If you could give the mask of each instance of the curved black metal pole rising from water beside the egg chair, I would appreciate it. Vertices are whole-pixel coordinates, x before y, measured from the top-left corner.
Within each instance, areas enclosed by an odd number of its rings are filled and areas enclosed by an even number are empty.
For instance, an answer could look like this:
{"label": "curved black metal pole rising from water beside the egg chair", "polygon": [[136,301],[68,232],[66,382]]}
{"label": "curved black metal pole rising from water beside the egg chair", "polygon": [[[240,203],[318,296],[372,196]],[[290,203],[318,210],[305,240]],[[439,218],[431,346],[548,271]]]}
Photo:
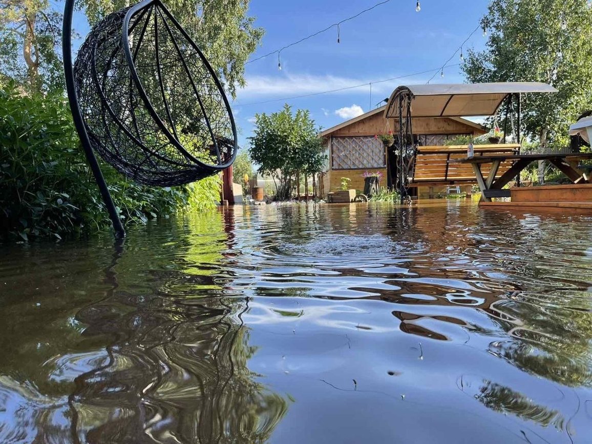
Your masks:
{"label": "curved black metal pole rising from water beside the egg chair", "polygon": [[74,126],[78,132],[78,137],[80,137],[86,160],[91,166],[92,173],[95,176],[96,185],[99,187],[101,197],[103,198],[103,202],[105,202],[105,206],[111,217],[111,223],[115,230],[115,237],[117,239],[123,239],[126,237],[126,230],[124,230],[123,224],[121,224],[119,214],[117,213],[117,209],[115,208],[115,204],[113,203],[111,194],[107,188],[107,182],[105,182],[101,167],[96,161],[95,152],[92,150],[91,141],[88,139],[84,121],[82,120],[82,113],[78,106],[78,97],[76,96],[76,88],[74,85],[74,69],[72,65],[72,14],[74,12],[74,1],[75,0],[66,0],[62,27],[62,56],[64,59],[64,75],[66,77],[66,91],[70,103],[70,111],[72,112]]}

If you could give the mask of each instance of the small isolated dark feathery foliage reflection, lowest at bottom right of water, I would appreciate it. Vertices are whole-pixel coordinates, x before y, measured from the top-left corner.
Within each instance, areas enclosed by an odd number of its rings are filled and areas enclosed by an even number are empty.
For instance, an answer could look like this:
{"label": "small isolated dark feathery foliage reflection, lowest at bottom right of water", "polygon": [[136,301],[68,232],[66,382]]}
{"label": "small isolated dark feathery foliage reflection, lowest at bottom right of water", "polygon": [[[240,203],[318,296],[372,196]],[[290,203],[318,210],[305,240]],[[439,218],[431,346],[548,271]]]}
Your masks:
{"label": "small isolated dark feathery foliage reflection, lowest at bottom right of water", "polygon": [[562,430],[565,425],[564,416],[557,410],[535,404],[525,395],[511,390],[504,385],[491,381],[483,381],[475,398],[485,407],[500,413],[512,413],[522,419],[539,423],[541,426],[553,425],[556,429]]}

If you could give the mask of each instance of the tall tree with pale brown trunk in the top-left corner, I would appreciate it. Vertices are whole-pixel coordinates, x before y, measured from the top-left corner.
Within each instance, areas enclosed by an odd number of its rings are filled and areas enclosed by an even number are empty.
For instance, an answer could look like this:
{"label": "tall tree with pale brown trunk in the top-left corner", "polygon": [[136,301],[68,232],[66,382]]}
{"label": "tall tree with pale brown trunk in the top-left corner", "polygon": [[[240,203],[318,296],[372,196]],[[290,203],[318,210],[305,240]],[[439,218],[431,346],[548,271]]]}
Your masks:
{"label": "tall tree with pale brown trunk in the top-left corner", "polygon": [[61,82],[62,14],[47,0],[0,0],[0,76],[34,91]]}

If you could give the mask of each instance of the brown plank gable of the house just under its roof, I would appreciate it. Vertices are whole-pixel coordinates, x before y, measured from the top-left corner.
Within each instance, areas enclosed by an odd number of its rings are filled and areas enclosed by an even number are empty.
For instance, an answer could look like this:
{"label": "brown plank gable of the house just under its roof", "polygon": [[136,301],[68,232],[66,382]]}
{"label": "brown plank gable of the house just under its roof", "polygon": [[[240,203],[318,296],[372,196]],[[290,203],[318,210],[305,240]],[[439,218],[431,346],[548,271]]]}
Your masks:
{"label": "brown plank gable of the house just under its roof", "polygon": [[[475,136],[485,134],[485,131],[477,127],[464,124],[457,120],[448,117],[417,117],[412,119],[414,134],[469,134],[473,133]],[[389,128],[393,133],[398,131],[398,121],[396,119],[389,119],[387,126],[387,119],[384,118],[382,112],[371,115],[363,120],[352,123],[346,127],[340,128],[331,133],[331,136],[374,136],[375,134],[385,134]]]}

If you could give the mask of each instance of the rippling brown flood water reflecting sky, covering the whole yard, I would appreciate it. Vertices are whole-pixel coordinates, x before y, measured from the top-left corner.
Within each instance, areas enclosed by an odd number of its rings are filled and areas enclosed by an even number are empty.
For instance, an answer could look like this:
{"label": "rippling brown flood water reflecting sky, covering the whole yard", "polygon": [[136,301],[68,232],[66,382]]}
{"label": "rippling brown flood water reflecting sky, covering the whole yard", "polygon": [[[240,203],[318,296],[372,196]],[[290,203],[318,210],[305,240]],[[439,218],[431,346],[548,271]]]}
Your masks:
{"label": "rippling brown flood water reflecting sky, covering the whole yard", "polygon": [[592,218],[268,205],[0,246],[0,442],[590,443]]}

